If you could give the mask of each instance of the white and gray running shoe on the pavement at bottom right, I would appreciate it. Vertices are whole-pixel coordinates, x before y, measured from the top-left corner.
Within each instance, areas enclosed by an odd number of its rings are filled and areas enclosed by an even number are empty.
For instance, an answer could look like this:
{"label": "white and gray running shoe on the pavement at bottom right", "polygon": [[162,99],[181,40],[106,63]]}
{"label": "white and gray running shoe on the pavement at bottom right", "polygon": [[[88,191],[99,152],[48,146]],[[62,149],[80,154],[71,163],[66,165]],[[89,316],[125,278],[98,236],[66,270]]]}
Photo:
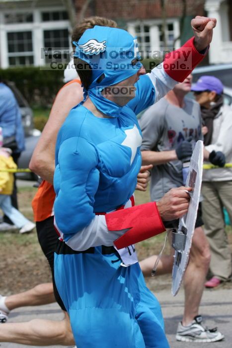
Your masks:
{"label": "white and gray running shoe on the pavement at bottom right", "polygon": [[181,342],[209,343],[222,341],[224,335],[217,328],[208,329],[202,325],[202,316],[197,315],[188,326],[178,324],[176,340]]}

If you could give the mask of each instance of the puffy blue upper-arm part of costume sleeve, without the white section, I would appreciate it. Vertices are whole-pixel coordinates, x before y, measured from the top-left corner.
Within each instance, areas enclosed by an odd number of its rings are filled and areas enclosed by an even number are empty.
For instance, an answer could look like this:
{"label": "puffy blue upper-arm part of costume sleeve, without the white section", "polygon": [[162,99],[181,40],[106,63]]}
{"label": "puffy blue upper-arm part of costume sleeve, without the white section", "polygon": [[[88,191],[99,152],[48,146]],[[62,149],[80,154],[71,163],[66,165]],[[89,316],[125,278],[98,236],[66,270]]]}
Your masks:
{"label": "puffy blue upper-arm part of costume sleeve, without the white section", "polygon": [[94,147],[85,139],[65,140],[58,151],[54,174],[55,217],[65,235],[77,233],[94,218],[93,203],[99,172]]}

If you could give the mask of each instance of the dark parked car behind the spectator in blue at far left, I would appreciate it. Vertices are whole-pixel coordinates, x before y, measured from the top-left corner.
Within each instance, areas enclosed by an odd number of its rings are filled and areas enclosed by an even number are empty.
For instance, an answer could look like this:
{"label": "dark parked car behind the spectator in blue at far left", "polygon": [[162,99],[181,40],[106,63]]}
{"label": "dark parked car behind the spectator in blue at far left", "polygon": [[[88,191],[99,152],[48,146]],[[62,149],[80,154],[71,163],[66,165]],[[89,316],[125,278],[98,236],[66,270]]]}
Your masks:
{"label": "dark parked car behind the spectator in blue at far left", "polygon": [[[33,111],[24,96],[13,82],[7,82],[7,86],[10,87],[15,98],[17,99],[22,115],[22,124],[25,134],[25,150],[19,157],[18,168],[28,168],[32,153],[39,140],[41,132],[38,129],[34,129]],[[18,178],[24,180],[37,180],[38,178],[34,173],[17,173],[16,175]]]}

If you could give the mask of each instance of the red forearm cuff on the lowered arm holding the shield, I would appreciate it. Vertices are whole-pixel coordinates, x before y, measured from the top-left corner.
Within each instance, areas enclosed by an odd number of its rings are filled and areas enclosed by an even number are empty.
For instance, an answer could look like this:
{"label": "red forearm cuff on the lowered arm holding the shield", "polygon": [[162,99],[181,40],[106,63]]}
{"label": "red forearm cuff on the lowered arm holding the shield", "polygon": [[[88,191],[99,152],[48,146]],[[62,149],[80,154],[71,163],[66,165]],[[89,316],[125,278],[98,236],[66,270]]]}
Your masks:
{"label": "red forearm cuff on the lowered arm holding the shield", "polygon": [[136,205],[105,215],[109,231],[129,229],[114,241],[117,249],[144,241],[165,231],[155,202]]}

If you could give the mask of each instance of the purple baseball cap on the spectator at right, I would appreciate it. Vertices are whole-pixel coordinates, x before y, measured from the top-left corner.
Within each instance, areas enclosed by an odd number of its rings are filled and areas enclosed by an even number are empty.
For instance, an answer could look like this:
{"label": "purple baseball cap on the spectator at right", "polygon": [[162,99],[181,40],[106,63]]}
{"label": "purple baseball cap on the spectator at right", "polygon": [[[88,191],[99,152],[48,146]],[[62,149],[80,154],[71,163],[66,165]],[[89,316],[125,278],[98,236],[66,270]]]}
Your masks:
{"label": "purple baseball cap on the spectator at right", "polygon": [[214,90],[217,94],[223,93],[223,84],[214,76],[201,76],[200,79],[191,88],[194,92],[201,92],[204,90]]}

